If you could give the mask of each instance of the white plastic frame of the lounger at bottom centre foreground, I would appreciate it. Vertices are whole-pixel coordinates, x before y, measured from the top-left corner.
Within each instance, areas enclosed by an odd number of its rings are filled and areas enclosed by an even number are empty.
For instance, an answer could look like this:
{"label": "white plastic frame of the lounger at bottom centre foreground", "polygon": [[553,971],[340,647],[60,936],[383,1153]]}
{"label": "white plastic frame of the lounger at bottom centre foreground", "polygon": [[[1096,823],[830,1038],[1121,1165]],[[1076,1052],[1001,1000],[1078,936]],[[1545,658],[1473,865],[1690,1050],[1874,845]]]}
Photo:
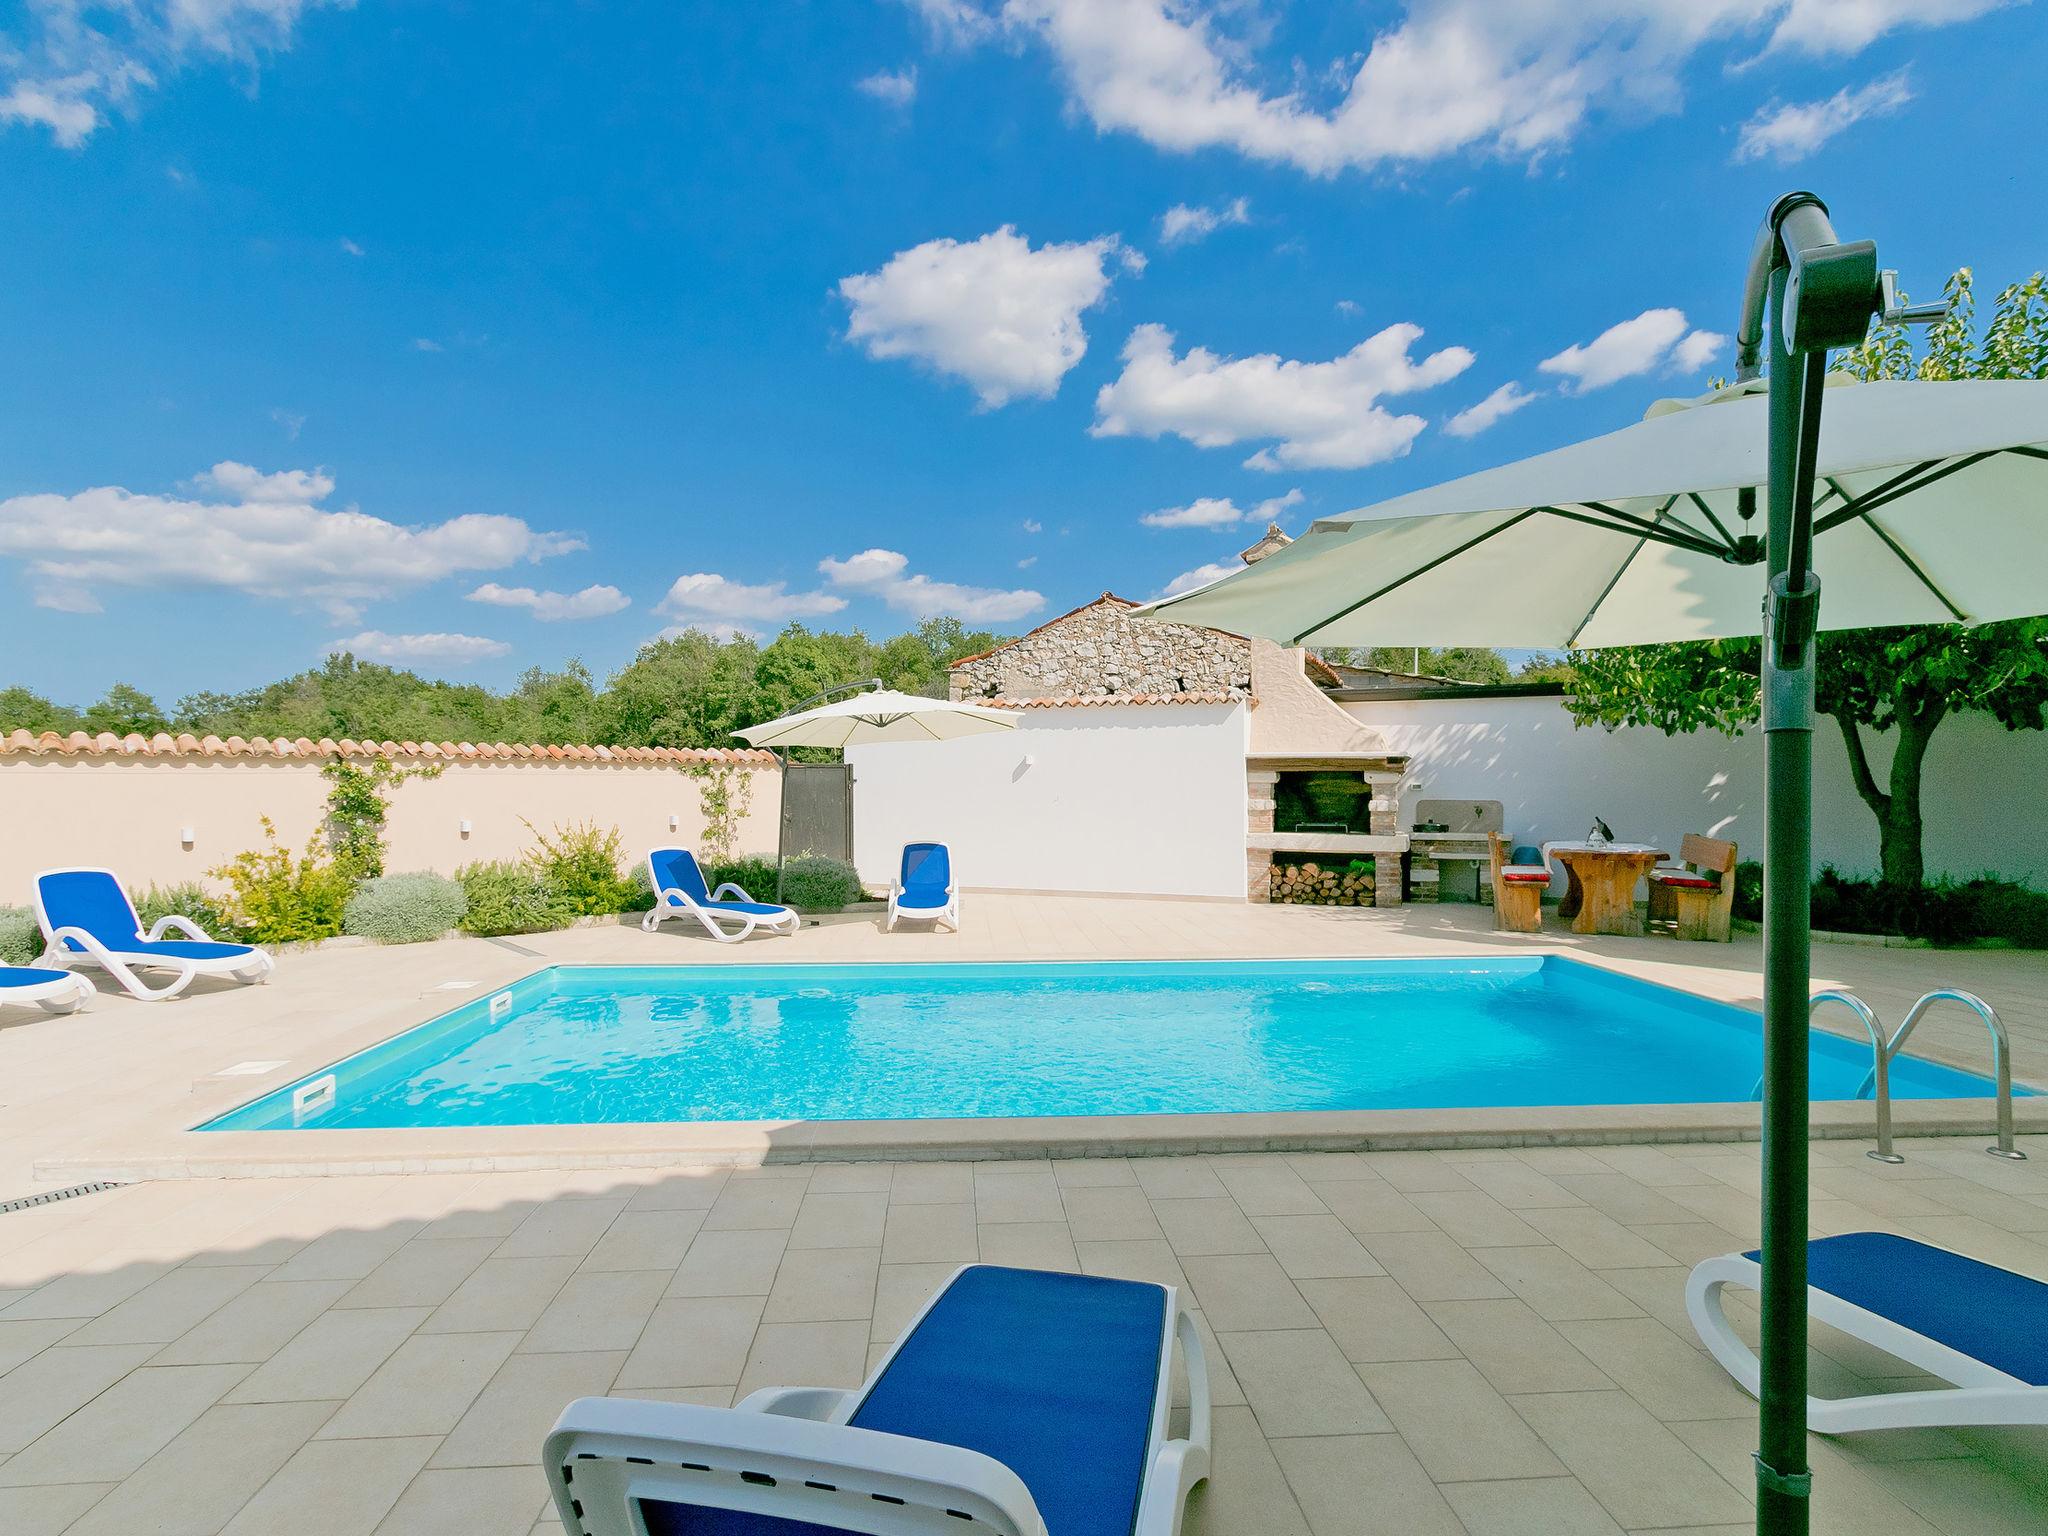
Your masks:
{"label": "white plastic frame of the lounger at bottom centre foreground", "polygon": [[[956,1270],[952,1280],[958,1276]],[[952,1280],[926,1300],[856,1393],[768,1386],[735,1409],[616,1397],[569,1403],[541,1450],[563,1530],[645,1536],[637,1501],[668,1499],[809,1520],[862,1536],[979,1530],[1044,1536],[1030,1491],[995,1458],[846,1423]],[[1188,1493],[1208,1477],[1208,1364],[1174,1286],[1165,1286],[1161,1333],[1159,1391],[1133,1536],[1176,1536]],[[1188,1368],[1186,1440],[1167,1438],[1176,1343]]]}

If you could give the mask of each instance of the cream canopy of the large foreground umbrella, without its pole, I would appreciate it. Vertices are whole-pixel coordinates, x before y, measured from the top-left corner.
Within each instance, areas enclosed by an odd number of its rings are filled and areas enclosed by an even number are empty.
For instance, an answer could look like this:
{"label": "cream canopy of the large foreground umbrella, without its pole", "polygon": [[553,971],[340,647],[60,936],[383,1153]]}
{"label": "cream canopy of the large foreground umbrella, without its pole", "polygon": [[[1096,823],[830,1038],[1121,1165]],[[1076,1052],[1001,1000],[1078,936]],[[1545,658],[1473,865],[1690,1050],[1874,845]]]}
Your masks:
{"label": "cream canopy of the large foreground umbrella, without its pole", "polygon": [[[1755,635],[1763,389],[1659,401],[1620,432],[1325,518],[1143,612],[1290,645]],[[2048,608],[2048,383],[1829,375],[1815,471],[1827,629]]]}

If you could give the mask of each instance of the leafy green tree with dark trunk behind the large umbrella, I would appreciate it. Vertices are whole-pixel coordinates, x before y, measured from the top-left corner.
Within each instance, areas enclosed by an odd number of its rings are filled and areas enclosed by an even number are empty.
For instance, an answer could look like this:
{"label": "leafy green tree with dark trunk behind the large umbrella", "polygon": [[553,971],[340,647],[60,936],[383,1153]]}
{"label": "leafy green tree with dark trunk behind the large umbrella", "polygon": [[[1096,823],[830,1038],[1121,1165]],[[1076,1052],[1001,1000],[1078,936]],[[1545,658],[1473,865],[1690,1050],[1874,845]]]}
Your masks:
{"label": "leafy green tree with dark trunk behind the large umbrella", "polygon": [[[2048,377],[2048,276],[2036,272],[1993,301],[1976,336],[1970,270],[1948,283],[1952,309],[1915,358],[1901,326],[1874,326],[1835,367],[1858,379]],[[2042,594],[2048,608],[2048,592]],[[1759,643],[1753,637],[1686,645],[1630,645],[1571,657],[1581,725],[1653,725],[1667,735],[1716,729],[1739,735],[1757,721]],[[1815,709],[1841,731],[1855,793],[1878,821],[1882,881],[1925,881],[1921,797],[1927,745],[1958,713],[1985,713],[2009,731],[2048,725],[2048,618],[1913,625],[1821,635]],[[1894,731],[1880,774],[1866,731]]]}

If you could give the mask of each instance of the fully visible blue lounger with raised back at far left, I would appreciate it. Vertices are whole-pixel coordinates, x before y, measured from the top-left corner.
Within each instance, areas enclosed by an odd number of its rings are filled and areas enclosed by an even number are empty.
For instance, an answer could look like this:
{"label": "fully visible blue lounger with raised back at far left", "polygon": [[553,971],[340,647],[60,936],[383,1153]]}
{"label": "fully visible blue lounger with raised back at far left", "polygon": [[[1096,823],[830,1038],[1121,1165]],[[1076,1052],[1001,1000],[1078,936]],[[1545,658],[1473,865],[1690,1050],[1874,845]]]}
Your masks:
{"label": "fully visible blue lounger with raised back at far left", "polygon": [[[111,868],[47,868],[35,877],[35,920],[45,961],[102,967],[143,1001],[176,997],[199,977],[264,981],[274,961],[252,944],[219,944],[190,918],[158,918],[143,934],[135,903]],[[166,940],[166,932],[184,938]],[[137,971],[176,971],[152,987]]]}

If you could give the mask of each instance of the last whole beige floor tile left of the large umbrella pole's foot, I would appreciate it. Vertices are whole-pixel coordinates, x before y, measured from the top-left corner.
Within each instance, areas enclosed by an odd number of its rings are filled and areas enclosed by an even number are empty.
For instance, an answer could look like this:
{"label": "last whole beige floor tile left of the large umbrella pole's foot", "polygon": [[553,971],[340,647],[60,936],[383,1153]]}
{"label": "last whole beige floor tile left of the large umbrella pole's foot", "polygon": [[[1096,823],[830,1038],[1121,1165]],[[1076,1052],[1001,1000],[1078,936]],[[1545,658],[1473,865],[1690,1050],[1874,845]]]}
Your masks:
{"label": "last whole beige floor tile left of the large umbrella pole's foot", "polygon": [[1749,1505],[1626,1393],[1532,1393],[1516,1411],[1620,1526],[1741,1520]]}

